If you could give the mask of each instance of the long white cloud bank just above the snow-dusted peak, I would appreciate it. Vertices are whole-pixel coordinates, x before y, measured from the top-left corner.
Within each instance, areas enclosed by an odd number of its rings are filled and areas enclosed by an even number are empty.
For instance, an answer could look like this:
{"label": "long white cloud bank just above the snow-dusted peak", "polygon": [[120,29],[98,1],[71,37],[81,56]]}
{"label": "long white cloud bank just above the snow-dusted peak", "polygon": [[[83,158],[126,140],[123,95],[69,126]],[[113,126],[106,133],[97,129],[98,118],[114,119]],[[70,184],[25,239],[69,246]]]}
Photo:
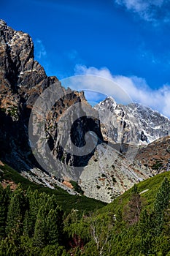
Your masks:
{"label": "long white cloud bank just above the snow-dusted peak", "polygon": [[[74,85],[74,89],[80,89],[78,86],[82,85],[81,89],[100,91],[103,94],[107,94],[126,103],[131,101],[139,102],[142,105],[150,106],[150,108],[153,110],[158,110],[163,115],[170,117],[169,85],[163,85],[157,90],[151,89],[150,86],[147,85],[144,78],[138,78],[136,76],[125,77],[123,75],[112,75],[109,69],[106,67],[96,69],[96,67],[77,65],[75,67],[75,75],[88,75],[88,78],[83,78],[82,76],[81,79],[85,79],[85,83],[82,83],[82,81],[81,83],[77,83],[77,86]],[[92,80],[92,76],[106,79],[100,79],[101,83],[99,80],[94,82],[94,80]],[[120,89],[118,89],[119,87]]]}

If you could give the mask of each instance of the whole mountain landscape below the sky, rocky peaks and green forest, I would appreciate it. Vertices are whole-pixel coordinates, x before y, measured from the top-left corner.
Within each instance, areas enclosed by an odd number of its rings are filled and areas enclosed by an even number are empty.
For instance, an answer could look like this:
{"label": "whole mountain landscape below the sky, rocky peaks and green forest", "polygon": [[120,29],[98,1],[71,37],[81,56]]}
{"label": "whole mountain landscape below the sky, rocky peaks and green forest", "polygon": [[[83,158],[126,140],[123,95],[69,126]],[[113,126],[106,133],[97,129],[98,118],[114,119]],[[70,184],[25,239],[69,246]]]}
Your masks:
{"label": "whole mountain landscape below the sky, rocky peaks and green forest", "polygon": [[4,20],[0,60],[0,255],[168,256],[169,119],[92,108]]}

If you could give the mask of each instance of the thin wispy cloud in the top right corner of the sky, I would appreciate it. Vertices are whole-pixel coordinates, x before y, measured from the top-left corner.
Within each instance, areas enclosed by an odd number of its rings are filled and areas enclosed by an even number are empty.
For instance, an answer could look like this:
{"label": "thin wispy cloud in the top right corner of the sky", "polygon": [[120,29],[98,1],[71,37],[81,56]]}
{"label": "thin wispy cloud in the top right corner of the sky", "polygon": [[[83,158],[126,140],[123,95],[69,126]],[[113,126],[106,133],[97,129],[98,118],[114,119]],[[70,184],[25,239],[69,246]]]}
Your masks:
{"label": "thin wispy cloud in the top right corner of the sky", "polygon": [[169,21],[169,0],[115,0],[115,3],[156,25],[160,20]]}

